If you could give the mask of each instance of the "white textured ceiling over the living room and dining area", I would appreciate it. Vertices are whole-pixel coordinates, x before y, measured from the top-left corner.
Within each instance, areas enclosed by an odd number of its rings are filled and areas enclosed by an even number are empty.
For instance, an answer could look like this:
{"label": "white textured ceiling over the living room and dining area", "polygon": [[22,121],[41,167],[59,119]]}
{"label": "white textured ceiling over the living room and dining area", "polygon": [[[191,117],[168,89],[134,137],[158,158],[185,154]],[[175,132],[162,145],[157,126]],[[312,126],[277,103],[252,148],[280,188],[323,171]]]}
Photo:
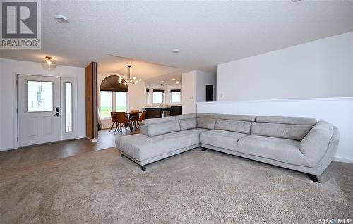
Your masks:
{"label": "white textured ceiling over the living room and dining area", "polygon": [[353,1],[42,1],[42,49],[1,49],[1,57],[97,61],[99,73],[131,65],[133,75],[157,82],[352,30]]}

